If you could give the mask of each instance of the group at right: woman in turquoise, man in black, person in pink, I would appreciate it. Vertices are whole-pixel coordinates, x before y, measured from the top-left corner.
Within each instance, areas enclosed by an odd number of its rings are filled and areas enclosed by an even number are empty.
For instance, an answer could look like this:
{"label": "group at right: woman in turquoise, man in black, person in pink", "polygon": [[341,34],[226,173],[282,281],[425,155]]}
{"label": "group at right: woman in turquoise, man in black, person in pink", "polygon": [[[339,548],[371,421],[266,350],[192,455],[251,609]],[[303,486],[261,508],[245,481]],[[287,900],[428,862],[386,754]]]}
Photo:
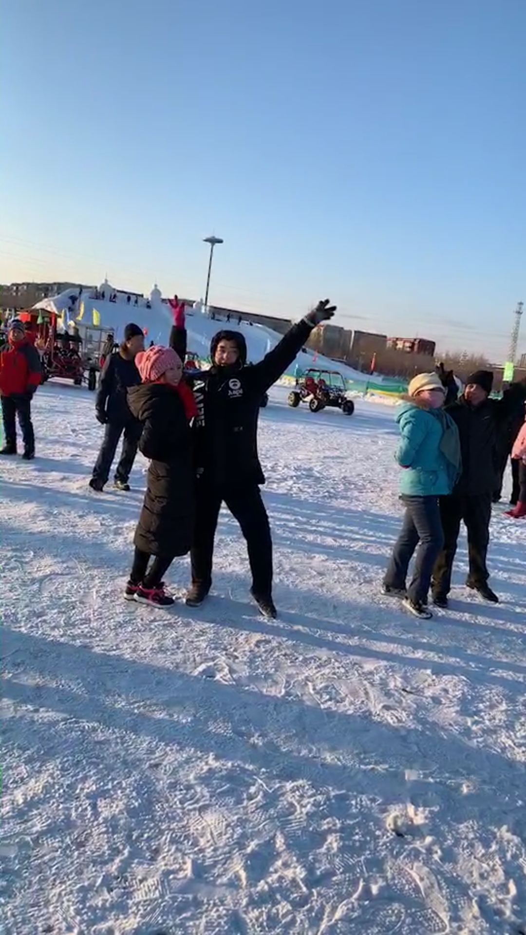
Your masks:
{"label": "group at right: woman in turquoise, man in black, person in pink", "polygon": [[522,428],[512,458],[519,464],[519,494],[508,515],[526,515],[526,381],[512,383],[500,399],[490,398],[492,383],[490,370],[477,370],[459,396],[452,371],[439,367],[409,383],[397,410],[401,440],[396,459],[403,468],[405,513],[383,592],[402,598],[405,608],[423,619],[432,616],[430,590],[432,603],[447,607],[461,521],[468,539],[466,586],[491,603],[499,601],[489,587],[489,522],[502,490],[503,439],[518,410]]}

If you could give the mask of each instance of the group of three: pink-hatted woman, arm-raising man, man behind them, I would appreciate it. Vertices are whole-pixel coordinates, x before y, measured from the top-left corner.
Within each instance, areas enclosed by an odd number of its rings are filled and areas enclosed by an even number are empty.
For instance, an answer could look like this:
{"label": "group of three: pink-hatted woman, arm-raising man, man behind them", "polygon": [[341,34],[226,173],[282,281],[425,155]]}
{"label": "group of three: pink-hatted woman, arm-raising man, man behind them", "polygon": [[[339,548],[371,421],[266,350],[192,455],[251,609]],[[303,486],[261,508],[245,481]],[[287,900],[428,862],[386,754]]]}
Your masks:
{"label": "group of three: pink-hatted woman, arm-raising man, man behind them", "polygon": [[176,556],[190,553],[192,581],[186,603],[198,607],[212,586],[215,530],[222,503],[246,539],[251,593],[275,617],[272,541],[259,487],[265,482],[257,454],[261,398],[289,367],[312,329],[332,318],[329,299],[318,302],[259,363],[247,362],[245,338],[222,330],[212,338],[212,367],[183,370],[186,329],[183,303],[172,305],[168,347],[144,350],[144,335],[128,324],[124,341],[105,361],[95,400],[105,426],[91,488],[102,492],[124,436],[114,484],[129,490],[139,451],[150,461],[139,516],[135,554],[124,597],[168,606],[163,578]]}

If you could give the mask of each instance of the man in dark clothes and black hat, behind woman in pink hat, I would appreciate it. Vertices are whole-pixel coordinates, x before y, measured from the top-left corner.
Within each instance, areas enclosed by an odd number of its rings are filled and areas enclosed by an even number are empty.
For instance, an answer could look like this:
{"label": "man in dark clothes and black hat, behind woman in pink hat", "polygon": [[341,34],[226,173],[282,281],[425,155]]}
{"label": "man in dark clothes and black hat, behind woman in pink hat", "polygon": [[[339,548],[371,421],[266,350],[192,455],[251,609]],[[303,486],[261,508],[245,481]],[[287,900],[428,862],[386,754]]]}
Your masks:
{"label": "man in dark clothes and black hat, behind woman in pink hat", "polygon": [[115,470],[117,490],[129,490],[128,478],[133,468],[140,435],[140,425],[132,415],[127,400],[130,386],[140,382],[135,366],[136,355],[144,349],[144,335],[138,324],[126,324],[124,341],[117,353],[106,358],[95,399],[98,422],[105,426],[104,440],[95,461],[90,481],[92,490],[101,493],[110,477],[110,468],[117,445],[124,433],[123,451]]}

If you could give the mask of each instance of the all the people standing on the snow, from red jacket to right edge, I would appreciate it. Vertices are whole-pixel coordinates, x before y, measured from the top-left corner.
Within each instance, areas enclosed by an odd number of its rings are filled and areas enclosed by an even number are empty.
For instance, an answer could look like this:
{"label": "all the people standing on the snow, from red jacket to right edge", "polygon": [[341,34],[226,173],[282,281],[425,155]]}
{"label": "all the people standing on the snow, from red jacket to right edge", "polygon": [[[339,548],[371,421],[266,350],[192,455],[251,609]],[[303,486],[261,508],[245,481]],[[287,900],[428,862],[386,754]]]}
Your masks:
{"label": "all the people standing on the snow, from red jacket to right edge", "polygon": [[[173,603],[163,578],[174,558],[189,552],[192,581],[186,602],[199,606],[212,586],[215,530],[226,503],[247,542],[252,595],[261,611],[273,617],[272,542],[259,490],[265,478],[257,454],[257,416],[261,397],[289,367],[312,329],[332,318],[335,307],[329,299],[318,302],[256,365],[247,363],[241,332],[219,331],[212,338],[212,367],[204,371],[184,369],[184,306],[171,302],[170,308],[174,324],[167,347],[144,350],[144,333],[137,324],[126,325],[118,347],[111,336],[95,399],[96,418],[105,431],[89,482],[92,490],[100,493],[109,482],[122,438],[114,474],[117,489],[130,489],[138,449],[150,461],[124,597],[159,606]],[[15,319],[8,326],[7,350],[0,352],[1,454],[17,453],[18,416],[22,458],[35,456],[31,400],[40,381],[38,353]],[[401,440],[396,459],[403,468],[405,513],[383,592],[402,598],[405,608],[420,618],[431,617],[430,590],[432,603],[447,607],[462,521],[468,538],[466,585],[498,602],[489,587],[489,522],[492,503],[502,490],[503,451],[509,453],[512,435],[511,454],[519,469],[516,505],[508,515],[526,516],[526,381],[512,383],[500,399],[490,397],[492,381],[491,371],[478,370],[459,396],[452,371],[439,367],[416,376],[397,409]]]}

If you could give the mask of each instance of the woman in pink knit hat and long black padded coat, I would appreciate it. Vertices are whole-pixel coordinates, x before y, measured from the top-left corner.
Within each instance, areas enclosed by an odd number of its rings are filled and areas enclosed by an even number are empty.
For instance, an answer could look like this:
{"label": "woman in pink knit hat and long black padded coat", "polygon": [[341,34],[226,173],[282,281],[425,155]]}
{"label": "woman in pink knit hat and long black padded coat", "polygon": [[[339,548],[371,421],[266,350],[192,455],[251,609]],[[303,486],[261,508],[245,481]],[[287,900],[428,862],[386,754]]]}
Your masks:
{"label": "woman in pink knit hat and long black padded coat", "polygon": [[[183,364],[171,348],[138,354],[142,383],[128,390],[129,407],[141,425],[139,449],[150,459],[135,555],[124,597],[166,607],[163,576],[176,555],[190,551],[194,530],[194,462],[190,420],[194,396],[181,382]],[[153,561],[151,562],[151,559]]]}

